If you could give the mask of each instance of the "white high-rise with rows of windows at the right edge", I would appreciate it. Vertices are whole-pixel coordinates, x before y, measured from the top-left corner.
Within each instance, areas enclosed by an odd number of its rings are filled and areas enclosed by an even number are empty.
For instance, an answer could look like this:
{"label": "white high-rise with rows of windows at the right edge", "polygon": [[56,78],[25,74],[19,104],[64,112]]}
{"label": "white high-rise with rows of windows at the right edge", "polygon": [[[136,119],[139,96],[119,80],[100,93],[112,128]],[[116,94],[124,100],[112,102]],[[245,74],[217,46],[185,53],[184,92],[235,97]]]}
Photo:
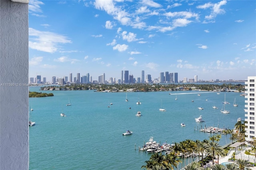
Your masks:
{"label": "white high-rise with rows of windows at the right edge", "polygon": [[245,140],[253,141],[256,138],[256,76],[248,77],[245,89]]}

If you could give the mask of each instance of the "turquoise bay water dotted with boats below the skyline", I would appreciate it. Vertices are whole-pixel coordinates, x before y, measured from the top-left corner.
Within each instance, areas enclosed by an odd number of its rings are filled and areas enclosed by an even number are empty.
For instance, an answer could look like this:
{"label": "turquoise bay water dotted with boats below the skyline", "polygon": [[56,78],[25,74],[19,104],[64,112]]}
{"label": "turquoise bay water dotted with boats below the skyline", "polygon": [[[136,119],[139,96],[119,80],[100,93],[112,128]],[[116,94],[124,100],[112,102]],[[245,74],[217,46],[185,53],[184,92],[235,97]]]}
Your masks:
{"label": "turquoise bay water dotted with boats below the skyline", "polygon": [[[30,87],[30,91],[39,91],[39,88]],[[150,136],[161,143],[204,140],[211,134],[197,128],[218,125],[234,128],[238,117],[244,120],[244,97],[233,92],[226,92],[226,101],[230,102],[226,109],[230,114],[220,113],[224,92],[220,95],[200,93],[201,96],[196,91],[131,92],[127,93],[128,102],[126,93],[121,92],[42,93],[54,93],[54,97],[29,99],[34,109],[32,121],[36,122],[29,127],[30,170],[140,170],[151,154],[139,152],[138,146],[143,146]],[[176,94],[178,100],[175,100]],[[235,97],[238,107],[232,105]],[[66,106],[69,98],[72,105]],[[136,105],[138,98],[141,105]],[[166,112],[159,111],[161,100]],[[213,105],[219,109],[213,109]],[[67,117],[60,116],[62,107]],[[135,116],[138,111],[141,117]],[[196,123],[194,119],[200,115],[205,122]],[[180,126],[182,122],[186,127]],[[122,136],[126,130],[133,134]],[[222,135],[220,144],[229,142],[228,138]]]}

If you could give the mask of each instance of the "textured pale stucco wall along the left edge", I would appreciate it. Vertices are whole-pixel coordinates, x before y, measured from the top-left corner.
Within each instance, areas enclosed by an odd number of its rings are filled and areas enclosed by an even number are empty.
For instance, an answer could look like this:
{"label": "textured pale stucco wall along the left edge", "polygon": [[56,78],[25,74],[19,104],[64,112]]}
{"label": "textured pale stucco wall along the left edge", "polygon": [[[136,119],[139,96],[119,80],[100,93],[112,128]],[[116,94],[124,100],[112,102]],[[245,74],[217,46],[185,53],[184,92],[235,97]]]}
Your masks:
{"label": "textured pale stucco wall along the left edge", "polygon": [[28,83],[28,4],[0,0],[0,170],[28,170],[28,87],[23,83]]}

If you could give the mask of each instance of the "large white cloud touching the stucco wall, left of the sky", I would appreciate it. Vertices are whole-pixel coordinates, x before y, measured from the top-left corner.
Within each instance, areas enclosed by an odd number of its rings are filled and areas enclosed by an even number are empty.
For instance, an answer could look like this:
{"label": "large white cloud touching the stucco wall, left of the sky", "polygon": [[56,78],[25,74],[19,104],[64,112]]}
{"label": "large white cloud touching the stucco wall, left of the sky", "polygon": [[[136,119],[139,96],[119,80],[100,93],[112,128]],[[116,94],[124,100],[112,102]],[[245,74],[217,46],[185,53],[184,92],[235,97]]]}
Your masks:
{"label": "large white cloud touching the stucco wall, left of the sky", "polygon": [[29,47],[38,51],[54,53],[60,48],[60,44],[71,43],[68,37],[53,32],[44,32],[29,28],[28,34]]}

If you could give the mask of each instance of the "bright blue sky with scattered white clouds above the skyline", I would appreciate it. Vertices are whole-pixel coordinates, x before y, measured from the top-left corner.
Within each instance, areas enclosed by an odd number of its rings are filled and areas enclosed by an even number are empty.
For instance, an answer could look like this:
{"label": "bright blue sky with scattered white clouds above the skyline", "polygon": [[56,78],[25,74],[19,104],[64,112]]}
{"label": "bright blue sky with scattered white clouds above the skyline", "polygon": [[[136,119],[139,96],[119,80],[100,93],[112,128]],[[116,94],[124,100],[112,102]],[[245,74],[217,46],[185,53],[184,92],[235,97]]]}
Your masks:
{"label": "bright blue sky with scattered white clouds above the skyline", "polygon": [[29,77],[256,75],[254,0],[30,0]]}

